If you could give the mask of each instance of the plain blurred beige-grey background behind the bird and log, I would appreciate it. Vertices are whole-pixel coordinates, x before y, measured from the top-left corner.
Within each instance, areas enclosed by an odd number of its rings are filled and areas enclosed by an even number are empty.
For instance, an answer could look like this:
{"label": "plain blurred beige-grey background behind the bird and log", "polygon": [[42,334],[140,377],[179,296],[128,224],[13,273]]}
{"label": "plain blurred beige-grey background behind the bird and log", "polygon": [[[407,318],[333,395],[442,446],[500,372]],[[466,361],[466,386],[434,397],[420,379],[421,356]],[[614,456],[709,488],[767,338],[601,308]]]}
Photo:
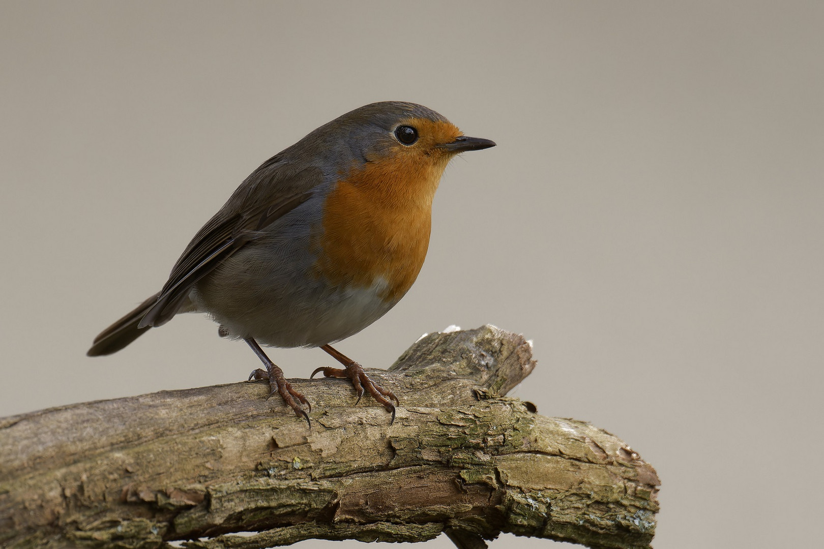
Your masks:
{"label": "plain blurred beige-grey background behind the bird and log", "polygon": [[339,349],[386,367],[452,323],[523,333],[515,394],[658,469],[656,547],[816,545],[824,2],[0,10],[0,415],[245,379],[255,356],[195,315],[85,352],[260,162],[411,100],[499,146],[453,161],[417,283]]}

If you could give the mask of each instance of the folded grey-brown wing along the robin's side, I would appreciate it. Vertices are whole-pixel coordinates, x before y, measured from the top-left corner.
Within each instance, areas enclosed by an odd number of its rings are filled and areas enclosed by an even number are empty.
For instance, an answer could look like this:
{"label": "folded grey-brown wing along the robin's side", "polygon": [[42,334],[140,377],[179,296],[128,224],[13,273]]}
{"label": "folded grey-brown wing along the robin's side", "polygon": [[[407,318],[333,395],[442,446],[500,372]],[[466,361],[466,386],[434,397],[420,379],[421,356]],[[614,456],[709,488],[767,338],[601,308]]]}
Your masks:
{"label": "folded grey-brown wing along the robin's side", "polygon": [[[277,157],[275,157],[277,158]],[[201,228],[171,269],[157,302],[138,328],[161,326],[175,314],[194,283],[255,238],[255,233],[306,202],[321,183],[317,170],[288,173],[270,159],[237,188]]]}

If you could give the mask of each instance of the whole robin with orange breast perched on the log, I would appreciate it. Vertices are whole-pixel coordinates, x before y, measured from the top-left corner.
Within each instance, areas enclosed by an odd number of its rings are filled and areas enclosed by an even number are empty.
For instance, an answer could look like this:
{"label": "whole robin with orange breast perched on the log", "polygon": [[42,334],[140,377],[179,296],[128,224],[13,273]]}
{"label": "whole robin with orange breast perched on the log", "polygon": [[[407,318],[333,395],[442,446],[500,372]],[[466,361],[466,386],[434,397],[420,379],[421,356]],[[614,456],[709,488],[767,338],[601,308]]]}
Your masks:
{"label": "whole robin with orange breast perched on the log", "polygon": [[[448,162],[494,147],[435,111],[400,101],[365,105],[326,123],[253,171],[198,231],[166,285],[98,335],[88,356],[110,355],[180,313],[208,313],[222,337],[242,339],[298,417],[311,404],[260,344],[321,347],[391,412],[398,399],[330,346],[360,332],[412,286],[429,244],[432,200]],[[300,404],[298,404],[300,402]],[[311,427],[311,423],[310,423]]]}

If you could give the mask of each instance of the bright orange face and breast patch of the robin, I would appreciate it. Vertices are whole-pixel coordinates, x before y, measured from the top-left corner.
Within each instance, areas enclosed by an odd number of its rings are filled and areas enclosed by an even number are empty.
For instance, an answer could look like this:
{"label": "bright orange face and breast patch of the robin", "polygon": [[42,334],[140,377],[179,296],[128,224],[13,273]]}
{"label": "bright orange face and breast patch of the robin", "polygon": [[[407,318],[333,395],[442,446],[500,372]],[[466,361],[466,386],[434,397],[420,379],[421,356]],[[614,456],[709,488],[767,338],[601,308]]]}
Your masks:
{"label": "bright orange face and breast patch of the robin", "polygon": [[392,142],[385,155],[340,179],[326,198],[316,241],[316,276],[344,287],[386,282],[380,296],[400,300],[424,264],[432,201],[454,154],[439,148],[461,131],[451,123],[407,119],[418,130],[411,146]]}

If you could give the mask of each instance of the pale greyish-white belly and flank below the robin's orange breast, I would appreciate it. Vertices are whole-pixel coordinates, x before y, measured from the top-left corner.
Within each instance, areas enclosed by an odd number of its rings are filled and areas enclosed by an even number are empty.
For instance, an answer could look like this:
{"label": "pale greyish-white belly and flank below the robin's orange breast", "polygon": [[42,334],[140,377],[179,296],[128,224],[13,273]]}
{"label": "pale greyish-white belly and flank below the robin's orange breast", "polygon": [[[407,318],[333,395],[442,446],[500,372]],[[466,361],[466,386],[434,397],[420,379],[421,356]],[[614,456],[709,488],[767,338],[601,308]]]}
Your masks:
{"label": "pale greyish-white belly and flank below the robin's orange breast", "polygon": [[[298,240],[298,241],[296,241]],[[386,296],[386,279],[369,286],[340,284],[313,272],[304,243],[241,249],[194,287],[197,309],[232,337],[253,337],[274,347],[320,347],[366,328],[400,297]]]}

